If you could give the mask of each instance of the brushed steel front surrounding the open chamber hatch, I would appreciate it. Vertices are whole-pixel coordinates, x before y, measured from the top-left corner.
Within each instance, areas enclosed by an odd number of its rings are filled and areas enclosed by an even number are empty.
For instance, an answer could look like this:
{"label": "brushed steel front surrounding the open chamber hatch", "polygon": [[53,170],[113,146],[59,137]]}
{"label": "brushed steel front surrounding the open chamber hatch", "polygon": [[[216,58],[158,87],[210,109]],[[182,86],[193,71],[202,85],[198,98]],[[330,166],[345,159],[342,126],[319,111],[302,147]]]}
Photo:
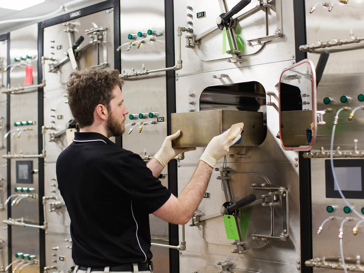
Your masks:
{"label": "brushed steel front surrounding the open chamber hatch", "polygon": [[[292,64],[289,61],[270,63],[265,65],[251,66],[248,68],[234,68],[228,70],[218,70],[213,72],[206,72],[200,74],[178,76],[176,81],[176,112],[188,112],[189,108],[199,111],[199,100],[203,90],[210,86],[220,85],[223,87],[225,84],[252,82],[256,81],[262,84],[265,92],[272,91],[275,95],[271,98],[266,96],[266,102],[271,100],[275,106],[262,105],[259,109],[264,114],[264,119],[267,123],[267,134],[264,142],[258,147],[240,147],[231,148],[229,154],[246,154],[245,158],[227,157],[227,162],[293,162],[298,153],[293,151],[284,151],[281,149],[280,139],[276,138],[279,131],[279,116],[278,116],[278,90],[274,85],[278,83],[281,72],[286,67]],[[229,78],[214,79],[213,75],[227,74]],[[262,77],[261,75],[270,75],[269,77]],[[189,94],[193,94],[190,97]],[[222,93],[223,94],[223,93]],[[194,101],[191,107],[189,101]],[[225,108],[224,108],[225,109]],[[227,107],[228,110],[236,110],[236,107]],[[199,157],[203,153],[203,148],[197,148],[196,151],[185,153],[183,162],[198,162]],[[220,159],[219,162],[223,162]],[[192,175],[192,174],[191,174]]]}

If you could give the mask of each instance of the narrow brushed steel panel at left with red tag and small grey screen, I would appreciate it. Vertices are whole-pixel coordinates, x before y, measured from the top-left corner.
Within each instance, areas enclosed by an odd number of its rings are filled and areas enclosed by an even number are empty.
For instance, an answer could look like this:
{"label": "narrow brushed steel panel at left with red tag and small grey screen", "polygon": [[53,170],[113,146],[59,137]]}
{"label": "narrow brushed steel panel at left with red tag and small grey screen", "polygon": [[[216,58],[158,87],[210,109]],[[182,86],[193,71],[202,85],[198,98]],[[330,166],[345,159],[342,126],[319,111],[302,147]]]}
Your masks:
{"label": "narrow brushed steel panel at left with red tag and small grey screen", "polygon": [[[37,84],[37,60],[38,60],[38,24],[32,24],[27,27],[16,29],[10,32],[10,59],[14,63],[14,58],[25,55],[36,55],[37,58],[31,60],[33,67],[33,84]],[[24,85],[25,70],[24,66],[16,67],[10,73],[11,87],[16,87],[18,84]],[[28,94],[10,95],[10,128],[14,129],[14,122],[25,120],[36,120],[38,124],[38,99],[37,92]],[[24,126],[23,126],[24,127]],[[28,126],[31,131],[22,132],[20,138],[16,135],[11,139],[10,151],[12,154],[38,154],[38,125]],[[9,135],[8,137],[11,137]],[[5,153],[5,152],[3,152]],[[33,184],[16,183],[16,161],[31,160],[33,161],[33,169],[38,169],[37,159],[11,159],[11,177],[12,177],[12,193],[15,187],[34,187],[33,193],[38,194],[38,174],[33,175]],[[38,198],[41,198],[38,196]],[[37,199],[24,198],[18,206],[13,206],[11,210],[12,218],[24,217],[25,222],[39,224]],[[6,217],[5,217],[6,218]],[[12,229],[12,257],[17,252],[29,253],[36,255],[39,258],[39,232],[36,228],[11,226]],[[18,268],[19,269],[19,268]],[[39,272],[39,266],[27,266],[24,270],[27,272]]]}

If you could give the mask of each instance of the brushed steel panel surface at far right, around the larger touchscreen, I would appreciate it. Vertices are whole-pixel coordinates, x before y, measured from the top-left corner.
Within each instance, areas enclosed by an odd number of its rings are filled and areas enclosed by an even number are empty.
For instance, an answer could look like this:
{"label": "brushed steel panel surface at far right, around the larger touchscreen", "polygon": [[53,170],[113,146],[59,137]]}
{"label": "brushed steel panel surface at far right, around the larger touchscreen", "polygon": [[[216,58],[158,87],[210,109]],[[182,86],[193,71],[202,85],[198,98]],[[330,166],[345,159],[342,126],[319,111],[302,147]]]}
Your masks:
{"label": "brushed steel panel surface at far right, around the larger touchscreen", "polygon": [[[344,39],[349,37],[349,32],[355,36],[362,36],[364,31],[362,14],[360,11],[361,3],[357,1],[348,2],[348,4],[334,4],[331,12],[328,8],[317,6],[313,13],[309,13],[310,8],[316,4],[315,0],[305,1],[306,7],[306,31],[307,43],[312,44],[317,40],[330,41],[333,37]],[[359,44],[357,44],[360,46]],[[334,117],[337,110],[343,106],[351,107],[363,105],[363,102],[357,100],[359,94],[363,94],[363,48],[355,50],[341,51],[339,47],[332,47],[330,50],[339,50],[331,52],[326,64],[323,78],[317,87],[317,110],[323,110],[327,107],[332,108],[332,112],[326,112],[324,115],[324,126],[317,127],[317,137],[314,147],[311,151],[320,151],[321,147],[327,152],[330,149],[331,132]],[[319,54],[307,54],[307,58],[317,63]],[[353,100],[343,104],[340,97],[343,95],[351,96]],[[324,104],[323,99],[330,97],[335,99],[334,104]],[[353,139],[358,139],[358,149],[364,149],[363,143],[363,111],[358,110],[354,118],[349,121],[350,111],[342,111],[339,114],[339,122],[336,126],[334,149],[340,146],[341,151],[353,151]],[[351,159],[346,159],[351,160]],[[341,198],[326,198],[325,195],[325,159],[311,159],[311,180],[312,180],[312,237],[313,237],[313,257],[331,257],[336,261],[340,257],[339,246],[339,228],[340,223],[345,217],[353,217],[353,221],[344,223],[343,249],[345,258],[355,258],[356,255],[363,255],[363,227],[359,227],[359,232],[353,236],[352,229],[359,221],[359,218],[353,214],[345,214],[343,207],[344,201]],[[357,209],[363,207],[361,199],[349,199],[349,203]],[[326,211],[326,206],[337,205],[337,210],[333,213]],[[335,220],[329,221],[324,225],[320,235],[317,235],[317,229],[324,219],[334,216]],[[304,262],[304,261],[302,261]],[[332,270],[323,268],[314,268],[313,272],[329,272]]]}

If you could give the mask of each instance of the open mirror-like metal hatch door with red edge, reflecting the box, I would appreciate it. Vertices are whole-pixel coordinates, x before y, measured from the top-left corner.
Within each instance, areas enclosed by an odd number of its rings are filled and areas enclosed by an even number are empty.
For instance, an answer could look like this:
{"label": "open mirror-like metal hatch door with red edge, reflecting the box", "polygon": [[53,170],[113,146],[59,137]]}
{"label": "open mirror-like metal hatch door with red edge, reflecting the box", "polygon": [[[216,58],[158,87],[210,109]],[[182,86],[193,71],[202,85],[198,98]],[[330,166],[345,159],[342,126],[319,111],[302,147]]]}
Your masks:
{"label": "open mirror-like metal hatch door with red edge, reflecting the box", "polygon": [[278,108],[282,147],[310,150],[316,137],[316,72],[310,60],[282,72]]}

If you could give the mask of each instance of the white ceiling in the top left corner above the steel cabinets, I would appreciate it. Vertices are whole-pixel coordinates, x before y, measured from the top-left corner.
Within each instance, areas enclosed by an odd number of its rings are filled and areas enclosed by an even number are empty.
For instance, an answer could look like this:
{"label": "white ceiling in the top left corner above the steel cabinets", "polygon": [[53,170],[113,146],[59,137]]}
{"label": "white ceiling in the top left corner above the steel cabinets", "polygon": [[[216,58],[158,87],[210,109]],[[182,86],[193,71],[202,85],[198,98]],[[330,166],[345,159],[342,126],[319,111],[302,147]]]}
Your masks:
{"label": "white ceiling in the top left corner above the steel cabinets", "polygon": [[[16,1],[16,0],[1,0],[1,1]],[[56,17],[63,13],[74,11],[76,9],[87,7],[89,5],[93,5],[95,3],[99,3],[102,1],[103,0],[84,0],[80,3],[70,5],[68,7],[68,11],[63,11],[63,12],[57,13],[56,15],[52,15],[48,18]],[[14,29],[23,27],[25,25],[37,23],[39,21],[43,21],[48,18],[44,18],[41,20],[33,20],[33,21],[25,21],[25,22],[12,22],[12,23],[1,23],[1,21],[45,15],[47,13],[56,11],[62,5],[66,4],[68,2],[70,2],[70,0],[46,0],[44,3],[35,5],[33,7],[27,8],[27,9],[23,9],[22,11],[15,11],[13,9],[0,8],[0,34],[6,33],[8,31],[12,31]]]}

